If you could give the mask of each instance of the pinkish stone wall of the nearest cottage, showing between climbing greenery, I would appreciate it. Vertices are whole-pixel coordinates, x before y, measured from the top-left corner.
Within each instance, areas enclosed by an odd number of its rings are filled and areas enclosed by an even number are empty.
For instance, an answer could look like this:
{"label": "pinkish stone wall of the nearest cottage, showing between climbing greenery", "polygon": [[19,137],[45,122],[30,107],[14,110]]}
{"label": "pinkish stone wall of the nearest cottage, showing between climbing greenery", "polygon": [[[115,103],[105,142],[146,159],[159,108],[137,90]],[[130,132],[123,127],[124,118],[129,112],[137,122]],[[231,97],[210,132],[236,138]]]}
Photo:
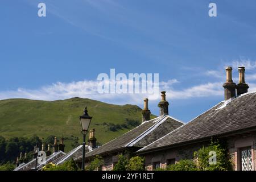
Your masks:
{"label": "pinkish stone wall of the nearest cottage, showing between climbing greenery", "polygon": [[[251,148],[252,160],[254,170],[256,171],[256,132],[250,134],[234,135],[226,138],[228,143],[228,151],[232,159],[233,169],[241,170],[241,148]],[[164,149],[156,152],[145,154],[146,170],[151,171],[154,169],[154,163],[160,162],[161,168],[166,168],[168,159],[175,159],[179,162],[181,159],[192,159],[195,151],[201,147],[207,146],[209,142],[201,142],[190,144],[188,146]]]}

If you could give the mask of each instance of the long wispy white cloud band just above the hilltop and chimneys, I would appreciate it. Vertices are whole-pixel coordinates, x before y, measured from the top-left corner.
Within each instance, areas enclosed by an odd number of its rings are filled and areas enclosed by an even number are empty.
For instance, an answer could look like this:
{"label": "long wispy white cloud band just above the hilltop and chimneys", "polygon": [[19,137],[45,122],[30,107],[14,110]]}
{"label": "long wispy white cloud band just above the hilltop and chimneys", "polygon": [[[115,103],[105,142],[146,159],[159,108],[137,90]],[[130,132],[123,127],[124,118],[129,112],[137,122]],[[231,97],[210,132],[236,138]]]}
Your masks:
{"label": "long wispy white cloud band just above the hilltop and chimneys", "polygon": [[[246,69],[253,71],[256,69],[256,63],[253,61],[232,61],[230,64],[244,65]],[[171,79],[168,81],[159,82],[159,91],[166,90],[167,98],[170,100],[185,100],[189,98],[202,98],[223,96],[224,89],[222,84],[225,81],[225,70],[210,70],[202,72],[202,75],[217,78],[216,81],[207,82],[205,84],[193,85],[188,88],[176,89],[175,84],[179,86],[180,81],[177,79]],[[233,74],[234,75],[234,74]],[[212,79],[209,79],[212,80]],[[234,81],[237,81],[237,77],[233,77]],[[246,82],[250,86],[250,91],[256,91],[256,74],[246,74]],[[56,82],[52,85],[43,86],[39,89],[26,89],[18,88],[17,90],[7,90],[0,92],[0,100],[7,98],[29,98],[34,100],[63,100],[71,97],[90,98],[93,100],[100,100],[103,102],[110,102],[113,104],[140,104],[142,98],[148,97],[147,93],[144,94],[100,94],[98,93],[98,81],[96,80],[84,80],[77,82]],[[158,96],[153,96],[152,102],[159,100]]]}

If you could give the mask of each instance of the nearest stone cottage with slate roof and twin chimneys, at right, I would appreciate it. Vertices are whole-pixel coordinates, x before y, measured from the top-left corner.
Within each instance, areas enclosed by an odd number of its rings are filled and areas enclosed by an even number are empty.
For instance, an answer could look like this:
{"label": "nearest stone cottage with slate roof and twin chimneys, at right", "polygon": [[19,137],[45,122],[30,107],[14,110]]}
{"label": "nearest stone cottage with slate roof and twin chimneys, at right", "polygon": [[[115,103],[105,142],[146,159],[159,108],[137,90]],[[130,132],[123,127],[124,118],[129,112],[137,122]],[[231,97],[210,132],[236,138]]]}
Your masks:
{"label": "nearest stone cottage with slate roof and twin chimneys, at right", "polygon": [[212,137],[224,139],[237,171],[256,170],[256,92],[247,93],[245,68],[239,67],[239,83],[226,68],[225,101],[200,114],[137,152],[146,158],[146,169],[165,168],[209,144]]}

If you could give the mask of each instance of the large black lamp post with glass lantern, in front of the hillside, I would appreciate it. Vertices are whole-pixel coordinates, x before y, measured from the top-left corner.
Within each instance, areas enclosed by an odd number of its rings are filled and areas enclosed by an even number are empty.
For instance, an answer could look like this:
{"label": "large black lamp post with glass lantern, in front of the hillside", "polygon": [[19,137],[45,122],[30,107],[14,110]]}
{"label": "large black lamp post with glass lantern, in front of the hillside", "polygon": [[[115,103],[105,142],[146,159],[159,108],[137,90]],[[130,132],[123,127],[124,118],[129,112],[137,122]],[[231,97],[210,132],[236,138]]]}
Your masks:
{"label": "large black lamp post with glass lantern, in front of the hillside", "polygon": [[84,163],[85,163],[85,137],[88,132],[90,121],[92,121],[92,117],[88,115],[87,107],[85,107],[84,114],[79,117],[80,124],[82,127],[83,134],[83,143],[82,143],[82,171],[84,171]]}

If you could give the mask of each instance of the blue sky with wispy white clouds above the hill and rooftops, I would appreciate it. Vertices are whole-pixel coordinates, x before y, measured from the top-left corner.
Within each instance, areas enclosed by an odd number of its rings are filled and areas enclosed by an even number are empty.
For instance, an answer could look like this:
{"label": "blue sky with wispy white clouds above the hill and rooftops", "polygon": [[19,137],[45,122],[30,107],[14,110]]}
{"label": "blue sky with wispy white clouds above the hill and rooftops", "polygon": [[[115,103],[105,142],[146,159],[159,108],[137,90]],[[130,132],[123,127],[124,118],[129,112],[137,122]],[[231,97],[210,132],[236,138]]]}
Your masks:
{"label": "blue sky with wispy white clouds above the hill and rooftops", "polygon": [[[44,2],[47,16],[38,16]],[[217,5],[210,18],[208,5]],[[0,2],[0,99],[87,97],[142,107],[139,94],[92,92],[99,73],[159,73],[170,115],[190,121],[222,101],[225,67],[256,90],[256,2],[61,0]],[[159,113],[159,100],[150,100]]]}

